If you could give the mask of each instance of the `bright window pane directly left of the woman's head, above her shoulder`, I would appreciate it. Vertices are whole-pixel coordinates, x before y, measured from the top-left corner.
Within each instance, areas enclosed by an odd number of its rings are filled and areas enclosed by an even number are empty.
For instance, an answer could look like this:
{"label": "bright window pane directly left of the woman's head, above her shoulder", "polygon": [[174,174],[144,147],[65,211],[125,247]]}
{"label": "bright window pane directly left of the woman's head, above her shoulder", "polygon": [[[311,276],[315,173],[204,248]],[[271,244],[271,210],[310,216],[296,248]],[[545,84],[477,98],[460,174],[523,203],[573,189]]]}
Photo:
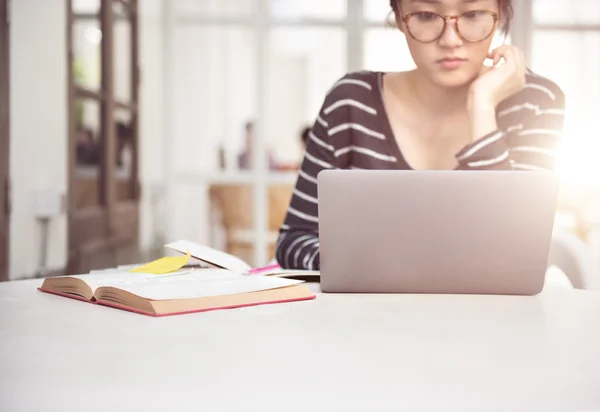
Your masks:
{"label": "bright window pane directly left of the woman's head, above her shoulder", "polygon": [[282,168],[304,154],[301,131],[311,126],[331,86],[346,73],[341,28],[277,28],[269,38],[266,143]]}

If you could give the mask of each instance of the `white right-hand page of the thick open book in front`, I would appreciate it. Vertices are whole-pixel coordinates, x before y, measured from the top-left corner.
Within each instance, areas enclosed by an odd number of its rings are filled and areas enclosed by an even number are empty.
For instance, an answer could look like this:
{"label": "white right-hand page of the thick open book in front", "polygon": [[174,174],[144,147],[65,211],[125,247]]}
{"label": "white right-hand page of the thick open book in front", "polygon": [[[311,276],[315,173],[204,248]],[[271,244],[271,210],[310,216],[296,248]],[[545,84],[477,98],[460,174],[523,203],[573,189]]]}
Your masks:
{"label": "white right-hand page of the thick open book in front", "polygon": [[191,299],[277,289],[300,280],[245,276],[222,269],[199,269],[180,276],[154,276],[131,282],[102,282],[150,300]]}

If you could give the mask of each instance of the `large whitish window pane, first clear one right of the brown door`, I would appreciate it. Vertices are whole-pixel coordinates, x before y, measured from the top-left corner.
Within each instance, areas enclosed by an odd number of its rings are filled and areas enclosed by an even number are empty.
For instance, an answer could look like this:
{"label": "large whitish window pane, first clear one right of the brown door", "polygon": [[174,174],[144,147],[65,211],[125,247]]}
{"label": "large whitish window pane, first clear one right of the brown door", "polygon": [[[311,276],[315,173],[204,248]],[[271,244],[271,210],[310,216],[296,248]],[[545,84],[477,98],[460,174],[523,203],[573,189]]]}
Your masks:
{"label": "large whitish window pane, first clear one right of the brown door", "polygon": [[245,124],[256,117],[256,40],[244,27],[174,29],[173,158],[183,172],[237,168]]}

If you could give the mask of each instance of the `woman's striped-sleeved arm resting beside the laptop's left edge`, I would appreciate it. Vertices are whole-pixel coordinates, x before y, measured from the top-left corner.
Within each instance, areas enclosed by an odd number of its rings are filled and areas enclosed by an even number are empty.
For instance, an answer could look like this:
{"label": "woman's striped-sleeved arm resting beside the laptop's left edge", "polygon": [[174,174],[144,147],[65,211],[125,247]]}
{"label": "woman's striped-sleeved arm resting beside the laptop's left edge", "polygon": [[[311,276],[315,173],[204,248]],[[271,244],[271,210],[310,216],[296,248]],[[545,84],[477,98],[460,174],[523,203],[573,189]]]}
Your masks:
{"label": "woman's striped-sleeved arm resting beside the laptop's left edge", "polygon": [[326,119],[321,110],[309,132],[304,160],[275,247],[277,262],[284,269],[318,270],[320,266],[317,175],[321,170],[337,167]]}

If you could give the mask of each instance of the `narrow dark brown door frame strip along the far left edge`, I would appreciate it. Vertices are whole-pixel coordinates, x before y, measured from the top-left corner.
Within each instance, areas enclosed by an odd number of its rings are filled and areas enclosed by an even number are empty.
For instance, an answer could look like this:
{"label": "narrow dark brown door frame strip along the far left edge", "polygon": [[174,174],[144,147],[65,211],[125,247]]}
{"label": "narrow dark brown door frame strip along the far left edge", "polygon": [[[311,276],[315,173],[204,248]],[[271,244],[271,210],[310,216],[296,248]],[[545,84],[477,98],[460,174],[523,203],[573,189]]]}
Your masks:
{"label": "narrow dark brown door frame strip along the far left edge", "polygon": [[0,282],[10,253],[10,1],[0,0]]}

